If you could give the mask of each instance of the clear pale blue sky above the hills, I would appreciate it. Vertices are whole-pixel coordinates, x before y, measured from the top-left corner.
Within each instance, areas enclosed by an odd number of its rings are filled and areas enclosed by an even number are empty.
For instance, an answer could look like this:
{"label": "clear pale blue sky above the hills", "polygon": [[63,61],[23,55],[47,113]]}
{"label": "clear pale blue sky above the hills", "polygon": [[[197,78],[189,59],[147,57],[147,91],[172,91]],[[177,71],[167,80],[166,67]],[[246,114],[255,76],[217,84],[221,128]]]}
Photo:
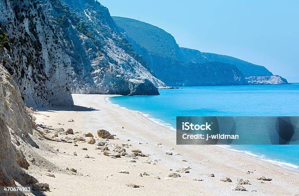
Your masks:
{"label": "clear pale blue sky above the hills", "polygon": [[234,56],[299,82],[299,0],[99,0],[181,47]]}

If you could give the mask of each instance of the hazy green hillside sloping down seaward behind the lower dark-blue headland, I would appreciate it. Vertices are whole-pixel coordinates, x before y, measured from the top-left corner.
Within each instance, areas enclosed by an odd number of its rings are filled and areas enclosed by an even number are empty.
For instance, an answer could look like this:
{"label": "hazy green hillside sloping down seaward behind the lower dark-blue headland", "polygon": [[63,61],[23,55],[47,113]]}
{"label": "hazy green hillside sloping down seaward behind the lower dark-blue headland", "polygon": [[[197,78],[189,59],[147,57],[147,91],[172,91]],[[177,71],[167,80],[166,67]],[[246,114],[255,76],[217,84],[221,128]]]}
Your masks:
{"label": "hazy green hillside sloping down seaward behind the lower dark-blue headland", "polygon": [[[120,29],[123,30],[134,50],[143,56],[143,58],[150,65],[150,68],[153,70],[154,74],[159,79],[163,80],[167,85],[170,84],[167,82],[167,80],[159,77],[159,73],[157,70],[155,71],[155,67],[169,65],[177,65],[179,67],[182,63],[193,63],[195,65],[209,62],[219,62],[219,64],[216,63],[214,65],[218,65],[219,67],[227,65],[227,68],[235,65],[243,75],[239,75],[239,77],[242,77],[244,81],[244,77],[273,75],[264,66],[255,65],[234,57],[200,52],[198,50],[189,48],[180,48],[171,34],[146,22],[140,22],[123,17],[112,18],[120,27]],[[202,71],[204,71],[204,66],[201,67],[203,69]],[[167,69],[167,67],[165,67],[165,69]],[[221,67],[221,69],[223,70],[224,68]],[[186,75],[186,77],[188,76]],[[228,81],[229,80],[230,79],[228,79]],[[225,84],[228,84],[228,82]],[[246,84],[246,82],[244,84]],[[215,84],[211,83],[210,85]]]}

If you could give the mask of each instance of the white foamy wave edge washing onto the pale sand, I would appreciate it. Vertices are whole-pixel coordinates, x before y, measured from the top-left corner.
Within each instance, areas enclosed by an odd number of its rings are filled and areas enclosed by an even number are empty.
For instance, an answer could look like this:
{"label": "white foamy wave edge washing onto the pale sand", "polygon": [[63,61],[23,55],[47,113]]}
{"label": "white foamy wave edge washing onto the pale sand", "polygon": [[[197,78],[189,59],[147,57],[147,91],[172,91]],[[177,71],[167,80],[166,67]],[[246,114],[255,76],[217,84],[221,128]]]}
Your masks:
{"label": "white foamy wave edge washing onto the pale sand", "polygon": [[[122,106],[120,106],[118,104],[112,103],[111,100],[109,99],[109,97],[106,97],[105,100],[107,101],[108,104],[111,104],[113,106],[119,107],[121,109],[128,109],[128,108],[122,107]],[[149,120],[151,120],[152,122],[154,122],[154,123],[156,123],[158,125],[165,126],[165,127],[169,128],[169,129],[171,129],[172,131],[176,131],[176,129],[171,124],[166,123],[165,121],[163,121],[161,119],[154,118],[154,117],[152,117],[149,114],[146,114],[146,113],[143,113],[143,112],[140,112],[140,111],[137,111],[137,110],[134,110],[134,111],[140,113],[141,115],[145,116],[146,118],[148,118]],[[293,169],[293,170],[299,170],[299,166],[298,165],[295,165],[295,164],[292,164],[292,163],[288,163],[288,162],[279,161],[279,160],[275,160],[275,159],[270,159],[270,158],[266,157],[264,154],[256,154],[256,153],[251,152],[251,151],[236,150],[236,149],[233,149],[229,145],[217,145],[217,146],[220,147],[220,148],[224,148],[224,149],[230,150],[230,151],[242,152],[242,153],[245,153],[245,154],[247,154],[249,156],[258,158],[258,159],[263,160],[263,161],[270,162],[272,164],[278,165],[278,166],[283,167],[283,168],[288,168],[288,169]]]}

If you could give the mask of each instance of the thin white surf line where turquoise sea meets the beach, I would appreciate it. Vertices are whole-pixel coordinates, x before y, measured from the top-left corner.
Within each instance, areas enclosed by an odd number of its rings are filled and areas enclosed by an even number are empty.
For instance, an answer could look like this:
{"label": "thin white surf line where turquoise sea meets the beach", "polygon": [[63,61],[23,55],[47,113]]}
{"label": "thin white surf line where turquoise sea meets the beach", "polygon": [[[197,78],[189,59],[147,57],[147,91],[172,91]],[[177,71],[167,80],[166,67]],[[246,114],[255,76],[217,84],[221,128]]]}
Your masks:
{"label": "thin white surf line where turquoise sea meets the beach", "polygon": [[[118,97],[118,96],[123,96],[123,95],[108,95],[106,98],[105,98],[105,101],[107,102],[107,104],[110,104],[110,105],[113,105],[113,106],[116,106],[116,107],[119,107],[121,109],[128,109],[126,107],[123,107],[123,106],[120,106],[118,104],[115,104],[115,103],[112,103],[111,100],[109,100],[110,97]],[[137,112],[137,113],[140,113],[140,115],[148,118],[150,121],[152,121],[153,123],[157,124],[157,125],[160,125],[160,126],[164,126],[168,129],[170,129],[171,131],[176,131],[175,128],[161,120],[161,119],[158,119],[158,118],[155,118],[155,117],[151,117],[150,114],[147,114],[147,113],[144,113],[144,112],[141,112],[141,111],[138,111],[138,110],[132,110],[132,109],[128,109],[128,110],[131,110],[133,112]],[[286,162],[286,161],[281,161],[281,160],[276,160],[276,159],[271,159],[270,157],[263,157],[263,154],[257,154],[256,152],[251,152],[251,151],[247,151],[247,150],[237,150],[237,149],[234,149],[233,146],[229,146],[229,147],[226,147],[227,145],[215,145],[215,146],[218,146],[219,148],[223,148],[223,149],[226,149],[226,150],[229,150],[229,151],[233,151],[233,152],[240,152],[242,154],[245,154],[247,156],[250,156],[252,158],[256,158],[258,160],[262,160],[262,161],[265,161],[267,163],[271,163],[273,165],[276,165],[276,166],[279,166],[279,167],[282,167],[284,169],[288,169],[288,170],[291,170],[291,171],[295,171],[295,172],[298,172],[299,173],[299,166],[298,165],[294,165],[293,163],[289,163],[289,162]]]}

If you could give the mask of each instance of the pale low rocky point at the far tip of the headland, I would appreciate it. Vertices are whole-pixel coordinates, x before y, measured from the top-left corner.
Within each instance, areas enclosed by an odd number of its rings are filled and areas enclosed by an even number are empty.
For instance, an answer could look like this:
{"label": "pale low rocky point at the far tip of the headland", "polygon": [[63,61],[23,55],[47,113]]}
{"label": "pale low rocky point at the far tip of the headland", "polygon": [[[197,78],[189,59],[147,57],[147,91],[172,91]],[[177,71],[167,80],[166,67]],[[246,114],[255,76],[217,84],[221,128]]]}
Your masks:
{"label": "pale low rocky point at the far tip of the headland", "polygon": [[285,78],[281,76],[251,76],[246,78],[249,85],[287,85],[289,84]]}

